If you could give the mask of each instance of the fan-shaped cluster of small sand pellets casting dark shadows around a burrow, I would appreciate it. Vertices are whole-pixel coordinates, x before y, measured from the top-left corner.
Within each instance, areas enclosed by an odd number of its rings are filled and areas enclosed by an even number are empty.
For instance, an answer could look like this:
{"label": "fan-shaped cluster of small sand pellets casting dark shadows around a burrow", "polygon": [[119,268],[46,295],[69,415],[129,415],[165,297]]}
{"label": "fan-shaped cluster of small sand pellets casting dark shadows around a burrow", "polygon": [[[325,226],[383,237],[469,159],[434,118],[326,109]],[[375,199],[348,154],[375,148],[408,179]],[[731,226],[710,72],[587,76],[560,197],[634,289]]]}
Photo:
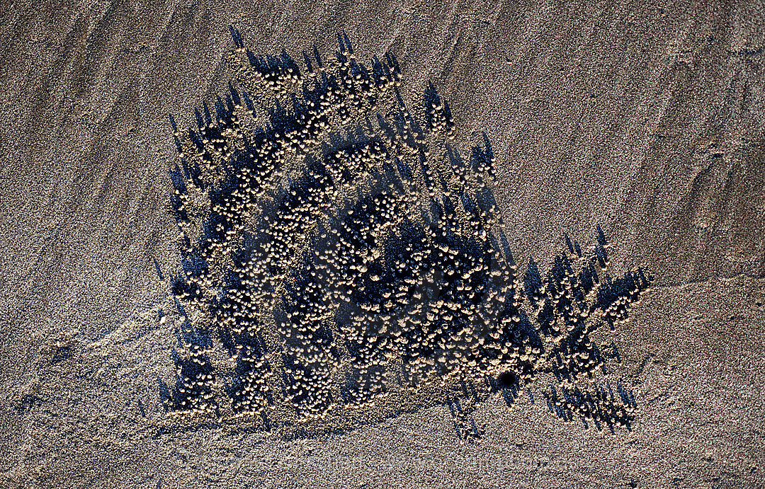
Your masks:
{"label": "fan-shaped cluster of small sand pellets casting dark shadows around a burrow", "polygon": [[490,141],[461,157],[432,86],[412,112],[392,55],[367,68],[340,35],[334,60],[314,50],[301,69],[232,34],[229,93],[197,128],[171,121],[182,273],[168,423],[337,429],[435,402],[468,438],[477,400],[512,403],[547,375],[553,413],[629,425],[634,398],[597,380],[590,333],[626,319],[643,270],[612,279],[598,228],[546,274],[519,272]]}

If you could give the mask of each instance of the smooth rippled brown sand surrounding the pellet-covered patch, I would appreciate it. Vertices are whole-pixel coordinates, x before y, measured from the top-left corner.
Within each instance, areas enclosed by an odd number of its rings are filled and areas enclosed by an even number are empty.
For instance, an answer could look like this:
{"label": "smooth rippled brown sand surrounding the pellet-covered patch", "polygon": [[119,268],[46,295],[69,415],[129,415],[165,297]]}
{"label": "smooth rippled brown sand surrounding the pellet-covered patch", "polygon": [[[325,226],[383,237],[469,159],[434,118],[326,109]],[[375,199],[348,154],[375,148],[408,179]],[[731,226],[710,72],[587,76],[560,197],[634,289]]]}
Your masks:
{"label": "smooth rippled brown sand surrounding the pellet-covered patch", "polygon": [[[5,2],[0,8],[3,487],[762,487],[765,11],[760,2]],[[610,336],[632,432],[522,397],[282,442],[152,437],[173,338],[166,203],[186,125],[229,79],[228,25],[296,58],[337,31],[395,53],[405,98],[486,131],[516,260],[603,226],[655,287]],[[509,62],[507,61],[509,60]],[[145,319],[142,319],[145,318]]]}

